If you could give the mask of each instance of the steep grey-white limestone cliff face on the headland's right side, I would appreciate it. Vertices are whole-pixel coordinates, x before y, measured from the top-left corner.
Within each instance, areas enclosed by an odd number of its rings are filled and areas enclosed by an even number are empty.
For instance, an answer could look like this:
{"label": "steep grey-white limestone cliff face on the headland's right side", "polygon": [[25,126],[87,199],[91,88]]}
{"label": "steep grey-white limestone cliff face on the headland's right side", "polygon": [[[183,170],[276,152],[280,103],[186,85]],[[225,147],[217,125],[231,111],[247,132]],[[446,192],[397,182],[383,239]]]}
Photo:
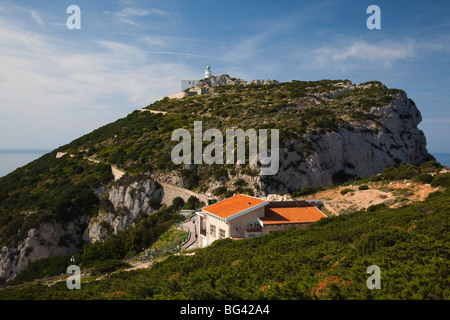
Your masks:
{"label": "steep grey-white limestone cliff face on the headland's right side", "polygon": [[370,113],[382,117],[378,122],[344,125],[337,132],[307,131],[309,153],[303,152],[300,141],[291,141],[280,150],[278,173],[261,179],[260,189],[265,194],[293,192],[341,183],[346,177],[369,177],[394,162],[418,165],[425,161],[425,135],[417,128],[422,117],[406,93],[399,93],[389,105],[371,108]]}

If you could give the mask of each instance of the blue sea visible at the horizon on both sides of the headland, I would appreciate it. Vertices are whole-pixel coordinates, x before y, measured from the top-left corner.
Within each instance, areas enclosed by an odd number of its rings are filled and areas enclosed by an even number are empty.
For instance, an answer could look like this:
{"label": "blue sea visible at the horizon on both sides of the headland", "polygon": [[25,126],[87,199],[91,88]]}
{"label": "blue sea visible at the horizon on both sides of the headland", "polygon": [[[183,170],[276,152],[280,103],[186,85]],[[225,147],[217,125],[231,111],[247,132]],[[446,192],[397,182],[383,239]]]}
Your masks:
{"label": "blue sea visible at the horizon on both sides of the headland", "polygon": [[[0,150],[0,177],[6,176],[51,150]],[[438,162],[450,167],[450,153],[432,153]]]}

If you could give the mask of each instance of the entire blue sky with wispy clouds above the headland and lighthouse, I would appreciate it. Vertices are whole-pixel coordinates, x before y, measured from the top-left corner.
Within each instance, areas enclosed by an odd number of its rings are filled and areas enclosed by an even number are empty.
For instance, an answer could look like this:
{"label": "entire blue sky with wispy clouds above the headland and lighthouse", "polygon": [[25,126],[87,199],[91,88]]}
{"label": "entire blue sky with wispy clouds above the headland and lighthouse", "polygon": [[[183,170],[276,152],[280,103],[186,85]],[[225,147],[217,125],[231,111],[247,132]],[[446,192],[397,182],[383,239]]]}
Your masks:
{"label": "entire blue sky with wispy clouds above the headland and lighthouse", "polygon": [[[69,5],[81,29],[69,30]],[[381,29],[369,30],[369,5]],[[449,1],[1,1],[0,149],[54,149],[183,78],[379,80],[450,153]]]}

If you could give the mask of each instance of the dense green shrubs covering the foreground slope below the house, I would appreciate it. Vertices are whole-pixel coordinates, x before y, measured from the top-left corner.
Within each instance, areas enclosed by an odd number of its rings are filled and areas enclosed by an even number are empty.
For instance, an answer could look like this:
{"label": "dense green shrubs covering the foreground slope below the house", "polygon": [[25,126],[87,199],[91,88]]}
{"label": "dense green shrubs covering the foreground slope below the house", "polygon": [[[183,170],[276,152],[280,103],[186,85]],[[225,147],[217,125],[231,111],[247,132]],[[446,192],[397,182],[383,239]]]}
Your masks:
{"label": "dense green shrubs covering the foreground slope below the house", "polygon": [[[450,177],[441,175],[441,185]],[[449,299],[450,192],[398,209],[383,205],[322,219],[302,230],[220,240],[68,290],[30,285],[0,299]],[[381,270],[369,290],[367,267]]]}

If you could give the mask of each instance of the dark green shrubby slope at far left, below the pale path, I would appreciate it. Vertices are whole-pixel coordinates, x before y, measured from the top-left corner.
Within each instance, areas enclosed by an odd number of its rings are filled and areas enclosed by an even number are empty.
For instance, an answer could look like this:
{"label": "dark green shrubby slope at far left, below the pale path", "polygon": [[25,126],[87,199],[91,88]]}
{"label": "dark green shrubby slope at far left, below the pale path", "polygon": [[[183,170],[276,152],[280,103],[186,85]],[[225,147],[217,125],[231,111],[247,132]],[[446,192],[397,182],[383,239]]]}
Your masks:
{"label": "dark green shrubby slope at far left, below the pale path", "polygon": [[112,182],[110,166],[56,152],[0,179],[0,247],[26,237],[41,223],[92,216],[100,200],[94,188]]}

